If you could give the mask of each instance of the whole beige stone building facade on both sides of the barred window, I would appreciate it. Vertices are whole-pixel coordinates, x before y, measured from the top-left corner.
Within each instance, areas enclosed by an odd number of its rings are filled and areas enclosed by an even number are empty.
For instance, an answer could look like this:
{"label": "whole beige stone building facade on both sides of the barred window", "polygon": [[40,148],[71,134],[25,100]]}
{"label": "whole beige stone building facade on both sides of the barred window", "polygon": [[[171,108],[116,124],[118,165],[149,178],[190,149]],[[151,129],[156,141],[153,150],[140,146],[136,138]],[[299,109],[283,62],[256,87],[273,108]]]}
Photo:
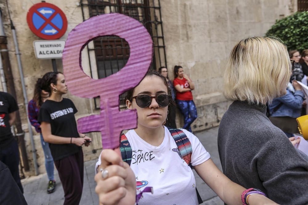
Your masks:
{"label": "whole beige stone building facade on both sides of the barred window", "polygon": [[[144,3],[145,1],[147,0],[122,0],[123,3]],[[40,38],[30,31],[26,21],[27,11],[33,4],[39,2],[41,1],[10,0],[7,5],[5,0],[0,0],[2,22],[8,41],[10,64],[23,123],[22,127],[26,132],[26,148],[31,168],[26,175],[34,174],[34,166],[8,10],[17,33],[27,97],[30,100],[33,97],[34,84],[37,78],[52,71],[50,59],[38,60],[35,58],[33,41]],[[63,10],[67,17],[67,32],[61,39],[66,39],[68,33],[76,25],[91,16],[86,5],[88,2],[91,2],[91,0],[48,1],[48,3],[55,4]],[[152,4],[159,5],[157,7],[160,10],[160,15],[155,15],[158,16],[158,21],[162,22],[162,29],[156,29],[159,32],[163,30],[163,38],[154,40],[154,45],[159,44],[162,39],[164,41],[165,61],[160,65],[167,66],[170,78],[173,78],[174,65],[181,65],[184,72],[195,83],[196,88],[193,90],[193,97],[197,106],[198,118],[192,124],[193,131],[218,126],[222,115],[230,104],[222,95],[222,76],[229,53],[235,43],[245,37],[263,36],[276,19],[281,19],[297,11],[296,0],[149,0],[149,2],[150,7],[153,6]],[[153,15],[151,18],[154,18]],[[85,73],[97,79],[99,75],[95,54],[91,50],[93,47],[92,41],[88,44],[88,48],[83,50],[82,65]],[[163,46],[158,49],[162,48]],[[155,60],[158,62],[157,56]],[[91,68],[89,63],[92,65]],[[57,59],[56,64],[58,70],[62,71],[61,59]],[[156,68],[159,67],[157,64]],[[2,90],[1,86],[0,90]],[[95,109],[97,105],[95,105],[93,99],[79,98],[70,93],[66,97],[72,99],[79,110],[75,115],[77,119],[99,113],[99,110]],[[182,121],[182,116],[178,112],[176,119],[178,127],[182,126]],[[33,132],[39,172],[43,173],[45,172],[44,155],[40,137],[34,129]],[[102,149],[100,133],[91,133],[89,136],[93,139],[93,143],[89,147],[83,148],[85,161],[96,159]]]}

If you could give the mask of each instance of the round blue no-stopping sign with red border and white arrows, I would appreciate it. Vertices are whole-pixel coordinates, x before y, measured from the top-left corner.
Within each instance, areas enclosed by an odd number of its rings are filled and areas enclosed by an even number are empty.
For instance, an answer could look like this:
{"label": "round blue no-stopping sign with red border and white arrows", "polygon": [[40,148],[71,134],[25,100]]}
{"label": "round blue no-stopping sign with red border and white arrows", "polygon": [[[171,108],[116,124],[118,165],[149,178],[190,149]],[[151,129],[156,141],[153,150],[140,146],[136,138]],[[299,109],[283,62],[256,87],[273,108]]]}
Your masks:
{"label": "round blue no-stopping sign with red border and white arrows", "polygon": [[30,30],[46,40],[59,39],[67,30],[67,19],[57,6],[42,2],[34,4],[28,11]]}

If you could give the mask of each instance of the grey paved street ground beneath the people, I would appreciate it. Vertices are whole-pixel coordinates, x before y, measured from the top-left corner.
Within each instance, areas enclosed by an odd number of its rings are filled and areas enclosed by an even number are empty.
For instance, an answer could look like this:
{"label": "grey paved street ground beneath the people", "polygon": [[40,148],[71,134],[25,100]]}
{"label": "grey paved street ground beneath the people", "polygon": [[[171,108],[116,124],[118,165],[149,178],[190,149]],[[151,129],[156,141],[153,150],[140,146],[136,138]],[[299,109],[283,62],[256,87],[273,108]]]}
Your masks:
{"label": "grey paved street ground beneath the people", "polygon": [[[217,149],[217,133],[218,127],[207,129],[201,132],[196,132],[195,135],[199,138],[205,149],[210,153],[211,159],[221,170],[219,154]],[[98,196],[95,193],[94,181],[94,166],[96,160],[87,161],[84,163],[84,180],[83,193],[80,205],[98,205]],[[222,200],[215,194],[214,191],[207,186],[203,180],[193,170],[197,189],[203,200],[203,205],[223,205]],[[52,194],[47,194],[47,174],[32,176],[22,179],[22,186],[24,189],[24,196],[29,205],[59,205],[64,202],[64,192],[62,184],[59,179],[58,172],[55,169],[55,180],[57,182],[56,190]]]}

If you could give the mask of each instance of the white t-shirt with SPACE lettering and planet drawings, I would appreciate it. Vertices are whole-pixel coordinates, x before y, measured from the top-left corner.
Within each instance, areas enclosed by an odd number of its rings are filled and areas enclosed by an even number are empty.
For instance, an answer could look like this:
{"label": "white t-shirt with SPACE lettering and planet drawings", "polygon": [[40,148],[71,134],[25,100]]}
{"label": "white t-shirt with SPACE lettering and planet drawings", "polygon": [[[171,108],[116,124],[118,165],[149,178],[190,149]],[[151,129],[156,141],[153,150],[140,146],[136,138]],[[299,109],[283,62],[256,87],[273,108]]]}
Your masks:
{"label": "white t-shirt with SPACE lettering and planet drawings", "polygon": [[[131,168],[136,176],[137,194],[145,187],[153,187],[154,191],[143,193],[138,204],[199,204],[193,171],[181,159],[168,128],[164,129],[164,140],[157,147],[141,139],[135,130],[125,134],[132,147]],[[182,131],[192,144],[191,164],[196,166],[208,160],[210,154],[199,139],[187,130]],[[100,164],[99,157],[95,171]]]}

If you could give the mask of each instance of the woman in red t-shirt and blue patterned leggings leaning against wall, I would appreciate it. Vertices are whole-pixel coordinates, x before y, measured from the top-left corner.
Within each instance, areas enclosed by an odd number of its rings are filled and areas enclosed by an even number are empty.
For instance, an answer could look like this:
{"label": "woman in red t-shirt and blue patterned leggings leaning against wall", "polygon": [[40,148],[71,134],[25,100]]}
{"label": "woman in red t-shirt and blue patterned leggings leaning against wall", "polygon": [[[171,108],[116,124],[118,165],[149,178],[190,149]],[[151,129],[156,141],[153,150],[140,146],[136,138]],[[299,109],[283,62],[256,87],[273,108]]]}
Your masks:
{"label": "woman in red t-shirt and blue patterned leggings leaning against wall", "polygon": [[195,89],[195,85],[184,74],[183,68],[179,65],[174,66],[174,77],[173,86],[176,89],[176,104],[184,116],[183,129],[192,132],[190,125],[197,118],[197,109],[191,92],[191,90]]}

